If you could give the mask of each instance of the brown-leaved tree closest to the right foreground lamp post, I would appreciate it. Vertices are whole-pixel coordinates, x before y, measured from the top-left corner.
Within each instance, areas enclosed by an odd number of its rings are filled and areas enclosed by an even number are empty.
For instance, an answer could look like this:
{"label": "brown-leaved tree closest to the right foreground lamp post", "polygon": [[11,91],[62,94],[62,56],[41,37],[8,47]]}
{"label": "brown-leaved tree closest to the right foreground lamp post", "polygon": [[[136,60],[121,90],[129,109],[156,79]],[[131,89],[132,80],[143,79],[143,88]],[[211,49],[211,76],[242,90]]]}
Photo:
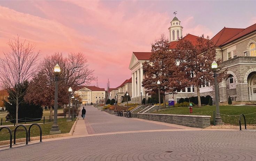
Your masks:
{"label": "brown-leaved tree closest to the right foreground lamp post", "polygon": [[[199,86],[205,82],[213,81],[211,63],[215,60],[220,65],[221,62],[220,59],[216,60],[214,44],[209,40],[208,36],[205,39],[204,35],[199,37],[195,44],[189,40],[180,39],[176,49],[172,50],[172,55],[179,60],[179,70],[183,71],[183,76],[187,79],[184,83],[195,85],[197,88],[198,105],[201,106]],[[220,82],[225,71],[218,74],[218,82]]]}

